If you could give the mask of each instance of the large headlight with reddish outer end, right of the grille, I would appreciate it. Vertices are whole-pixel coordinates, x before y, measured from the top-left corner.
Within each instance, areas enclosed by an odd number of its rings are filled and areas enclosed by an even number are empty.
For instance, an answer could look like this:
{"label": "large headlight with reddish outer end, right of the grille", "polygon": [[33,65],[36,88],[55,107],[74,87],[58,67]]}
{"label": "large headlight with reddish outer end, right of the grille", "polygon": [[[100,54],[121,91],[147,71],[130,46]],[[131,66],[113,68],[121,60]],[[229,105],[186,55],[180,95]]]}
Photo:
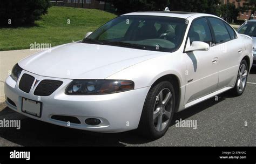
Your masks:
{"label": "large headlight with reddish outer end, right of the grille", "polygon": [[66,88],[68,95],[97,95],[124,92],[134,89],[130,80],[73,80]]}

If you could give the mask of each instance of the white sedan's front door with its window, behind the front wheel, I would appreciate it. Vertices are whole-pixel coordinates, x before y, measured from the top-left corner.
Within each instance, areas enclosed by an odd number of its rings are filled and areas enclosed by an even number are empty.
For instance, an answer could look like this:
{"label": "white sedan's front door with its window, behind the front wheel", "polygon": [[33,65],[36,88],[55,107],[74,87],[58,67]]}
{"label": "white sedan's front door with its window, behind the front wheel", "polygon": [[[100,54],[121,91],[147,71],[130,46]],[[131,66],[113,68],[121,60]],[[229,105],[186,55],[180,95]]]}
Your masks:
{"label": "white sedan's front door with its window, behind the front wheel", "polygon": [[[206,18],[199,18],[192,22],[188,38],[187,44],[192,44],[194,41],[214,43]],[[214,46],[208,51],[183,54],[187,67],[185,104],[217,90],[220,54],[221,52],[216,51]]]}

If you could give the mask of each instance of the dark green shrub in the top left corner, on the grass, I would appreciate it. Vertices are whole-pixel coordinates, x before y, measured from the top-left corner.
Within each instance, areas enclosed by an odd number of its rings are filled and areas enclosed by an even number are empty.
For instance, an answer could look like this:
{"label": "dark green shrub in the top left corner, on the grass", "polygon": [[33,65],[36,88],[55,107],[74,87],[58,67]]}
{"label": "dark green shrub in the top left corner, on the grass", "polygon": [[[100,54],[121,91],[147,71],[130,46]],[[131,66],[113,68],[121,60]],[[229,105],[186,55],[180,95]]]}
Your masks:
{"label": "dark green shrub in the top left corner, on the grass", "polygon": [[31,25],[47,13],[49,0],[8,0],[0,2],[0,25]]}

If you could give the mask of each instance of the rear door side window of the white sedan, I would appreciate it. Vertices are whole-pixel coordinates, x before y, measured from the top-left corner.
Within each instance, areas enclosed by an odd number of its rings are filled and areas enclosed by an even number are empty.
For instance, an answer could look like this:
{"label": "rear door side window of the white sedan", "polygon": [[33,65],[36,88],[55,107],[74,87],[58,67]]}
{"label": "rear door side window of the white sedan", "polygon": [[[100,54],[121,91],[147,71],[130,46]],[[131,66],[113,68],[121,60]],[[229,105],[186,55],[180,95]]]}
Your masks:
{"label": "rear door side window of the white sedan", "polygon": [[213,28],[213,33],[217,43],[225,43],[231,40],[230,33],[223,22],[218,18],[208,18]]}

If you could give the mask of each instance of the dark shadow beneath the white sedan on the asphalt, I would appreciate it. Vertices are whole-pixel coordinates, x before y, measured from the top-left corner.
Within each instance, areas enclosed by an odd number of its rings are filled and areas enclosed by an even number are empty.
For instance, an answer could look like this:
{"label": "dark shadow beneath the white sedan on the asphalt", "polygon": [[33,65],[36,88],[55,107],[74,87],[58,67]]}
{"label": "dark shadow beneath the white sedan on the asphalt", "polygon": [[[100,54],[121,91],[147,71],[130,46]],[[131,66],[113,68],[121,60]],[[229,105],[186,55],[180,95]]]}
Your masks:
{"label": "dark shadow beneath the white sedan on the asphalt", "polygon": [[[219,100],[214,98],[208,99],[203,103],[188,108],[174,115],[174,120],[187,119],[207,108],[225,100],[225,94],[220,95]],[[2,113],[10,114],[12,111],[5,107]],[[14,112],[12,112],[14,113]],[[14,144],[21,146],[127,146],[139,145],[152,142],[153,140],[145,139],[139,136],[136,131],[124,133],[106,134],[71,129],[46,122],[25,118],[21,120],[21,129],[0,128],[0,137]]]}

